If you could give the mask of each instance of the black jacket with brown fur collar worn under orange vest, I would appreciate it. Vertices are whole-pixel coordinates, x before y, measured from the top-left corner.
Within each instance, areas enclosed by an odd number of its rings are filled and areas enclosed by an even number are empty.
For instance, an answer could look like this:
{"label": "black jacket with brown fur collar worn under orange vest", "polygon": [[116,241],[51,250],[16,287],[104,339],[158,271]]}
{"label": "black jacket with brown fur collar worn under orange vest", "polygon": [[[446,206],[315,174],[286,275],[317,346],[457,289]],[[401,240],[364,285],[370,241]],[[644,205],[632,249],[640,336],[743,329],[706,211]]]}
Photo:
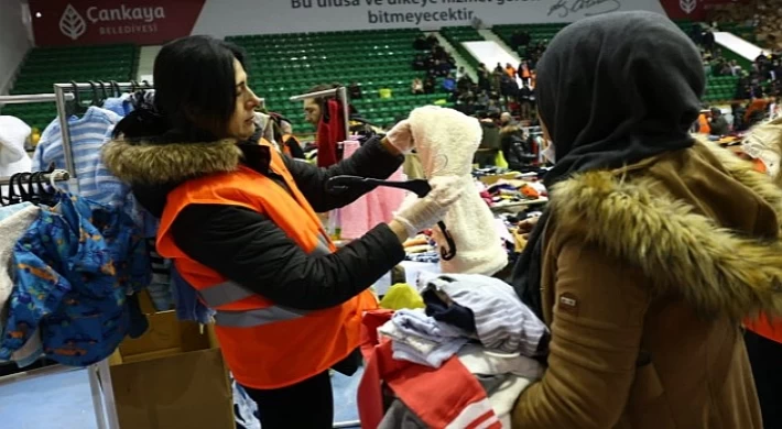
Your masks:
{"label": "black jacket with brown fur collar worn under orange vest", "polygon": [[[112,141],[104,160],[120,179],[131,183],[139,201],[160,217],[169,191],[187,178],[230,172],[241,162],[272,178],[269,148],[231,141],[195,144],[130,144]],[[390,155],[374,138],[350,158],[318,168],[284,157],[296,186],[315,211],[344,207],[371,190],[328,193],[337,175],[387,178],[403,157]],[[323,309],[347,301],[370,287],[404,258],[395,234],[380,224],[361,239],[322,256],[306,254],[272,220],[252,210],[222,205],[192,205],[172,226],[176,245],[193,260],[274,302],[300,309]]]}

